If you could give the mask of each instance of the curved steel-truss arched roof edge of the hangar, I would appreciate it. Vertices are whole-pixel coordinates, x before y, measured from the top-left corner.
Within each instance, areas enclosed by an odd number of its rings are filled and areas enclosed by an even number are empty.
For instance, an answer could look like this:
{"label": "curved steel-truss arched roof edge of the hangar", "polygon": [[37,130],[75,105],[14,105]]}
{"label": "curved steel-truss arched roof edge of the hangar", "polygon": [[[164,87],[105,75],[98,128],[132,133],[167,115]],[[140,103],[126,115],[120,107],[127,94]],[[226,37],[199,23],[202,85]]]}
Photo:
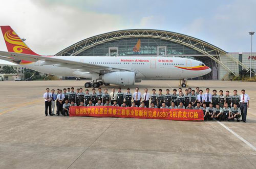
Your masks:
{"label": "curved steel-truss arched roof edge of the hangar", "polygon": [[81,40],[61,50],[55,55],[77,55],[84,50],[87,50],[98,44],[102,44],[104,42],[109,42],[116,39],[134,38],[134,37],[138,37],[138,38],[150,37],[150,38],[169,40],[169,41],[183,44],[195,50],[198,50],[203,54],[208,53],[211,55],[219,55],[220,53],[223,53],[223,54],[227,53],[225,50],[215,45],[212,45],[200,39],[187,36],[184,34],[179,34],[179,33],[169,32],[169,31],[161,31],[161,30],[151,30],[151,29],[133,29],[133,30],[113,31],[109,33],[96,35],[96,36]]}

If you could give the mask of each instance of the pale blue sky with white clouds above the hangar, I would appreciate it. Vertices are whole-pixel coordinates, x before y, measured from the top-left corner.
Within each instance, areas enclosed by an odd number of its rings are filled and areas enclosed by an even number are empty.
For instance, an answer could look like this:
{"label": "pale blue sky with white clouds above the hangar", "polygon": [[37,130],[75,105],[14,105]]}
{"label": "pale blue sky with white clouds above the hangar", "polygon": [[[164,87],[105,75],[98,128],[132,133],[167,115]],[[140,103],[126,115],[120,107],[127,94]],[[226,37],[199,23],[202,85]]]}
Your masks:
{"label": "pale blue sky with white clouds above the hangar", "polygon": [[[255,8],[255,0],[8,0],[1,2],[0,25],[10,25],[33,51],[44,55],[125,29],[177,32],[228,52],[249,52]],[[2,34],[0,50],[7,51]]]}

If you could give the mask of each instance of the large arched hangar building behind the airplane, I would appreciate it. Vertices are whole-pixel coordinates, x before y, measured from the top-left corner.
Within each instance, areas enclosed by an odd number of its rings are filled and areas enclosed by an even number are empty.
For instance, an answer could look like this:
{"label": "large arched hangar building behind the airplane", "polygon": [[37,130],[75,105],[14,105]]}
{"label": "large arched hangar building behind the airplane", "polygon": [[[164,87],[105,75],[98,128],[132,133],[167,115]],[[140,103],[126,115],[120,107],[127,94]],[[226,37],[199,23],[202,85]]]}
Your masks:
{"label": "large arched hangar building behind the airplane", "polygon": [[[256,53],[227,52],[195,37],[160,30],[121,30],[81,40],[55,55],[59,56],[162,56],[185,57],[203,62],[211,72],[200,79],[225,80],[229,74],[255,72]],[[164,64],[164,63],[163,63]],[[189,65],[187,65],[189,66]],[[253,73],[254,75],[254,73]]]}

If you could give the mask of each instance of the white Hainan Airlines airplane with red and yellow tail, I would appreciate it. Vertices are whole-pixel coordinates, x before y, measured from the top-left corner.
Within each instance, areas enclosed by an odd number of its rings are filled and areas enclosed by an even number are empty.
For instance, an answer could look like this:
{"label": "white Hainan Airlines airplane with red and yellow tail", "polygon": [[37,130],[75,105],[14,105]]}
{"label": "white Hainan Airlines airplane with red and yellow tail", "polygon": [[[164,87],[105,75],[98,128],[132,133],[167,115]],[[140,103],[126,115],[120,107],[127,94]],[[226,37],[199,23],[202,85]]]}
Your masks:
{"label": "white Hainan Airlines airplane with red and yellow tail", "polygon": [[[86,88],[111,84],[130,86],[141,79],[187,79],[203,76],[211,69],[202,62],[179,57],[88,57],[39,55],[10,26],[0,26],[8,49],[0,59],[28,69],[58,76],[84,77]],[[186,83],[182,83],[186,87]]]}

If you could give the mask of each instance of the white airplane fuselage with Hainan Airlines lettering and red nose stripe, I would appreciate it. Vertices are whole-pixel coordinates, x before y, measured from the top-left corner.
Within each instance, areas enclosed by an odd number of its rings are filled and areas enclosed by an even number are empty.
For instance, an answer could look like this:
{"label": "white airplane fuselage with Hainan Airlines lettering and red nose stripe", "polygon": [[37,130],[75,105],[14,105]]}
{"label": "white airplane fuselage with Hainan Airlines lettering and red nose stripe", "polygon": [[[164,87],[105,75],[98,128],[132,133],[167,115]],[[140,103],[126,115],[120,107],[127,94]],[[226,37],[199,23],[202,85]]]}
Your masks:
{"label": "white airplane fuselage with Hainan Airlines lettering and red nose stripe", "polygon": [[[175,57],[52,57],[68,61],[89,63],[93,65],[108,66],[136,72],[136,78],[146,79],[183,79],[205,75],[211,71],[193,70],[193,67],[200,66],[202,62]],[[48,65],[44,61],[37,61],[22,66],[58,76],[74,76],[92,78],[90,70],[77,70],[77,68],[60,67],[58,64]],[[177,67],[176,67],[177,66]],[[178,68],[184,67],[186,69]]]}

